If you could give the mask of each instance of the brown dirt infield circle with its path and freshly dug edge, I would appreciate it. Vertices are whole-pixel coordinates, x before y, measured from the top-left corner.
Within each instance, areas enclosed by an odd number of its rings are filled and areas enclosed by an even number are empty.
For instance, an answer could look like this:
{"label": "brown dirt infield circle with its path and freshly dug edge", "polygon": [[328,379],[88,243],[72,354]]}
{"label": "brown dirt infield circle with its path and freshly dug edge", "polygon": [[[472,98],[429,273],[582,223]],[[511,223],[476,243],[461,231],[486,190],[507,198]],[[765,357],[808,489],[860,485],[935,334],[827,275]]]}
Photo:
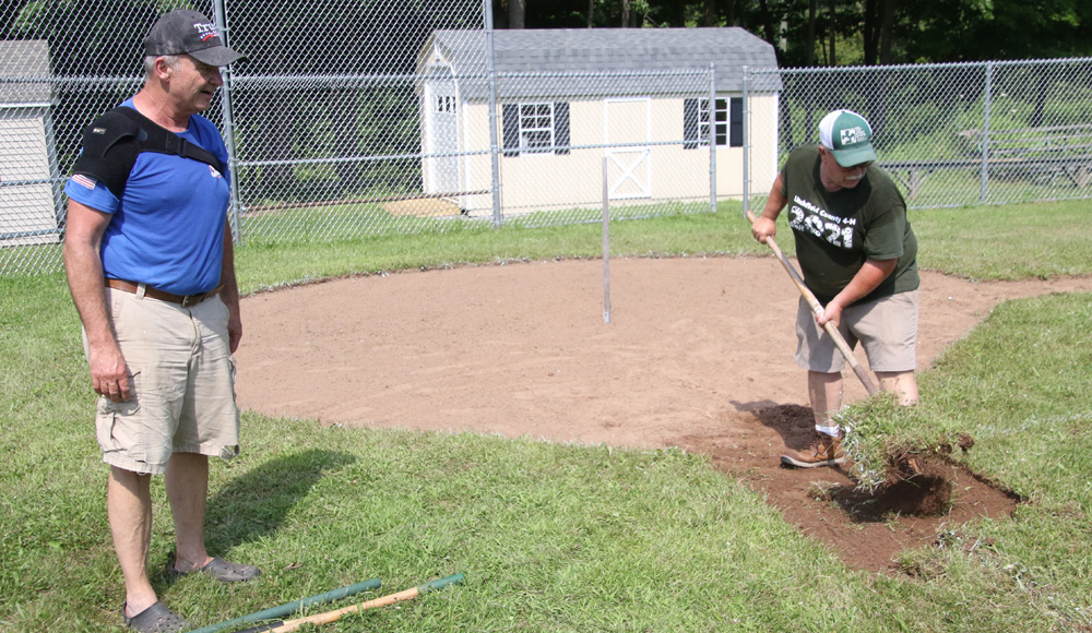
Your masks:
{"label": "brown dirt infield circle with its path and freshly dug edge", "polygon": [[[475,431],[626,447],[682,446],[743,477],[857,569],[891,569],[943,526],[1016,501],[970,474],[943,516],[894,521],[817,498],[844,473],[781,468],[810,433],[794,360],[797,291],[772,258],[613,259],[336,279],[242,301],[239,404],[324,423]],[[1092,278],[971,283],[922,275],[918,368],[998,301],[1092,291]],[[862,356],[862,361],[864,358]],[[865,396],[845,372],[846,399]],[[928,397],[928,394],[923,394]],[[846,494],[852,499],[852,494]]]}

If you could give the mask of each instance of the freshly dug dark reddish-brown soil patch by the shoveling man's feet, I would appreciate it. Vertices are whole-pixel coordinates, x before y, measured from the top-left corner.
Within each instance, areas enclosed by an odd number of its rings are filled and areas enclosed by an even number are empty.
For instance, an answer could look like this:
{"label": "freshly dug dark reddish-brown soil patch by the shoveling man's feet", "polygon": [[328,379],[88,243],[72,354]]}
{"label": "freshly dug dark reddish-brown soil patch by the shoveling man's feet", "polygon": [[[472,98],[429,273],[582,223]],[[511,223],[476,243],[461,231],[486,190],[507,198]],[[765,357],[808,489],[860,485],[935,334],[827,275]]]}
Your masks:
{"label": "freshly dug dark reddish-brown soil patch by the shoveling man's feet", "polygon": [[810,408],[775,405],[725,416],[732,432],[689,434],[677,444],[710,455],[717,469],[747,481],[853,569],[898,573],[900,552],[936,547],[942,534],[982,517],[1010,517],[1020,501],[958,465],[921,456],[916,475],[876,491],[858,488],[842,468],[784,468],[782,451],[800,449],[810,438]]}

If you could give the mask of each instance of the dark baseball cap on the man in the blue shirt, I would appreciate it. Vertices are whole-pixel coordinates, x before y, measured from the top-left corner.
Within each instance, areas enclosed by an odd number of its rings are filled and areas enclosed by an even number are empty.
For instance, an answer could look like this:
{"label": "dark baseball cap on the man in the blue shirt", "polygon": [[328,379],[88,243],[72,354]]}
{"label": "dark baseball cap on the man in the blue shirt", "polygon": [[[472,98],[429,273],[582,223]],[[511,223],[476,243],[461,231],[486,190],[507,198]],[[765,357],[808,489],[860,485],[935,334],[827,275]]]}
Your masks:
{"label": "dark baseball cap on the man in the blue shirt", "polygon": [[247,58],[224,46],[212,21],[188,9],[168,11],[155,21],[144,38],[144,55],[188,55],[209,65],[227,65]]}

